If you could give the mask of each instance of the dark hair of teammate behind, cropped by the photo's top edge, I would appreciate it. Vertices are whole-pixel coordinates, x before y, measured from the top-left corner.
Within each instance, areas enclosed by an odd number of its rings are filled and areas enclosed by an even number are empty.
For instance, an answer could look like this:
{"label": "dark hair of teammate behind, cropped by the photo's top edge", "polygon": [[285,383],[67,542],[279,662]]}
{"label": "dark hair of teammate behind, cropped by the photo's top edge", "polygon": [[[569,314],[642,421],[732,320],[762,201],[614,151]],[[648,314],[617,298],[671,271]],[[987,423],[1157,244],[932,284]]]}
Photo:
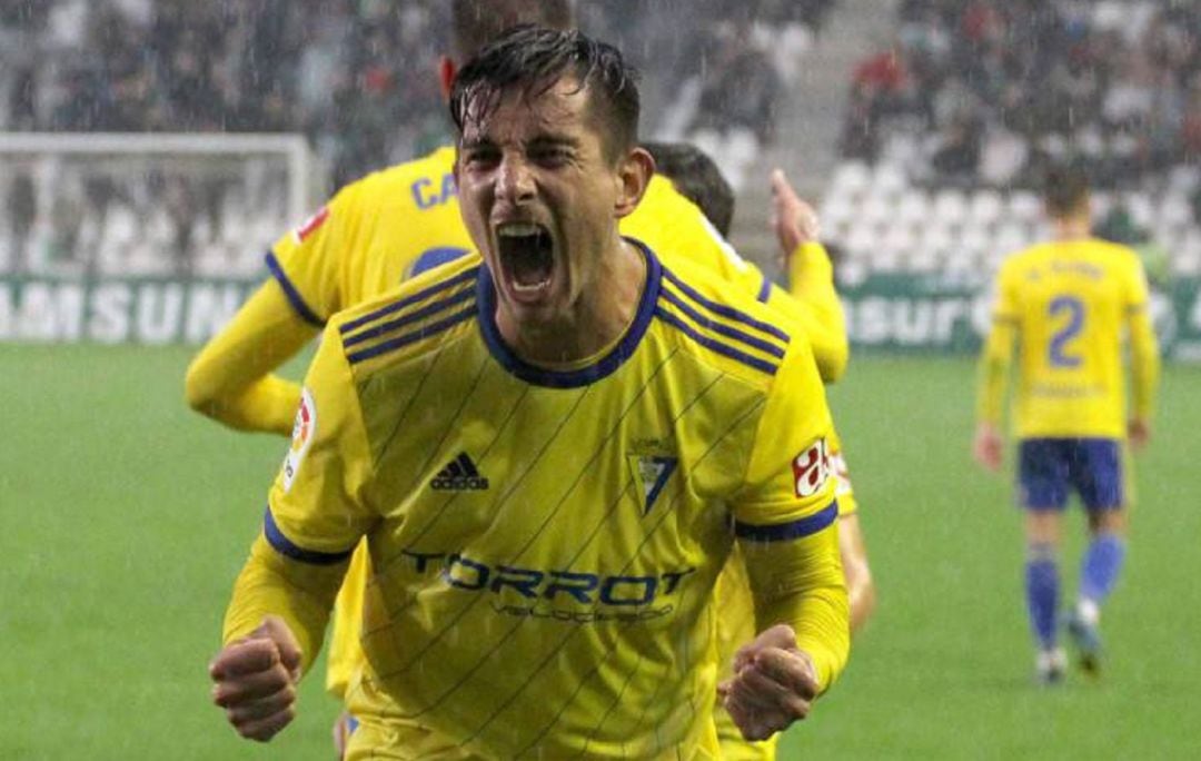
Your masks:
{"label": "dark hair of teammate behind, cropped by the photo's top edge", "polygon": [[575,26],[573,0],[454,0],[450,4],[450,52],[462,63],[501,34],[520,24],[549,29]]}

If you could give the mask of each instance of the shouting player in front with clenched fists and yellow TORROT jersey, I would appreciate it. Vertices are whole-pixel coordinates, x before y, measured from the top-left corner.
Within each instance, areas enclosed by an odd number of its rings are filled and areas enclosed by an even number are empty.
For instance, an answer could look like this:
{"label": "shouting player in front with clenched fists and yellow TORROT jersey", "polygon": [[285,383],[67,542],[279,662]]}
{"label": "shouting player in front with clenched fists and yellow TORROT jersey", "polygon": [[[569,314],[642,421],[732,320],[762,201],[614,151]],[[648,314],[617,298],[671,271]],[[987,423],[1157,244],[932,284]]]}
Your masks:
{"label": "shouting player in front with clenched fists and yellow TORROT jersey", "polygon": [[460,73],[452,113],[486,267],[462,257],[327,327],[219,702],[249,737],[291,719],[366,535],[349,757],[713,754],[709,599],[733,517],[760,634],[722,691],[748,737],[784,729],[847,649],[803,331],[619,236],[652,162],[615,49],[514,31]]}

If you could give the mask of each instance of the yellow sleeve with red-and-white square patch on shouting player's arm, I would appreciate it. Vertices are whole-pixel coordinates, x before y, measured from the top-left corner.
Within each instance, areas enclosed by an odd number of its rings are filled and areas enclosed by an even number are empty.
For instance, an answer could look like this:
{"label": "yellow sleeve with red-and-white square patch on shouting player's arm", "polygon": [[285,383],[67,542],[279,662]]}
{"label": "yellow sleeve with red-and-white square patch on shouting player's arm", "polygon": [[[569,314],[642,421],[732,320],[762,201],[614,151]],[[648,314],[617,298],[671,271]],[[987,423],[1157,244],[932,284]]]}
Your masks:
{"label": "yellow sleeve with red-and-white square patch on shouting player's arm", "polygon": [[850,648],[838,558],[830,411],[812,351],[794,337],[759,422],[746,487],[734,505],[759,631],[785,623],[823,690]]}

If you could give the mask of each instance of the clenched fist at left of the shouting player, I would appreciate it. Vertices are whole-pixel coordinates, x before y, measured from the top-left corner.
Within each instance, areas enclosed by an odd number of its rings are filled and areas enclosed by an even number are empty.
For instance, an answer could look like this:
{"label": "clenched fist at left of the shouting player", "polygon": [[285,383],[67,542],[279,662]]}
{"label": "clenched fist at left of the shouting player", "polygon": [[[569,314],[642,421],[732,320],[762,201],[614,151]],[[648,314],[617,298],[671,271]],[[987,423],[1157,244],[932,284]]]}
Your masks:
{"label": "clenched fist at left of the shouting player", "polygon": [[209,664],[213,702],[238,733],[267,742],[295,718],[300,647],[283,619],[268,616]]}

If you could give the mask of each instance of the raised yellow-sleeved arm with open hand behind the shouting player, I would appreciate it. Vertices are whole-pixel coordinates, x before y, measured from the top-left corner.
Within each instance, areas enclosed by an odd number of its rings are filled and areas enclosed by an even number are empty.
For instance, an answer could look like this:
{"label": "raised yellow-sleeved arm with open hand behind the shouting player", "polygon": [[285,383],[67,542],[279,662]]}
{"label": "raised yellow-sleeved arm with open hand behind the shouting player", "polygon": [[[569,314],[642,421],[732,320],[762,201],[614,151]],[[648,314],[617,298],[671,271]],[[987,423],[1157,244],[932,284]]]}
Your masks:
{"label": "raised yellow-sleeved arm with open hand behind the shouting player", "polygon": [[800,307],[796,316],[808,334],[821,380],[832,384],[847,369],[850,345],[842,302],[833,287],[833,264],[818,242],[818,216],[781,170],[771,173],[771,226],[779,242],[781,269],[788,274],[788,293]]}

